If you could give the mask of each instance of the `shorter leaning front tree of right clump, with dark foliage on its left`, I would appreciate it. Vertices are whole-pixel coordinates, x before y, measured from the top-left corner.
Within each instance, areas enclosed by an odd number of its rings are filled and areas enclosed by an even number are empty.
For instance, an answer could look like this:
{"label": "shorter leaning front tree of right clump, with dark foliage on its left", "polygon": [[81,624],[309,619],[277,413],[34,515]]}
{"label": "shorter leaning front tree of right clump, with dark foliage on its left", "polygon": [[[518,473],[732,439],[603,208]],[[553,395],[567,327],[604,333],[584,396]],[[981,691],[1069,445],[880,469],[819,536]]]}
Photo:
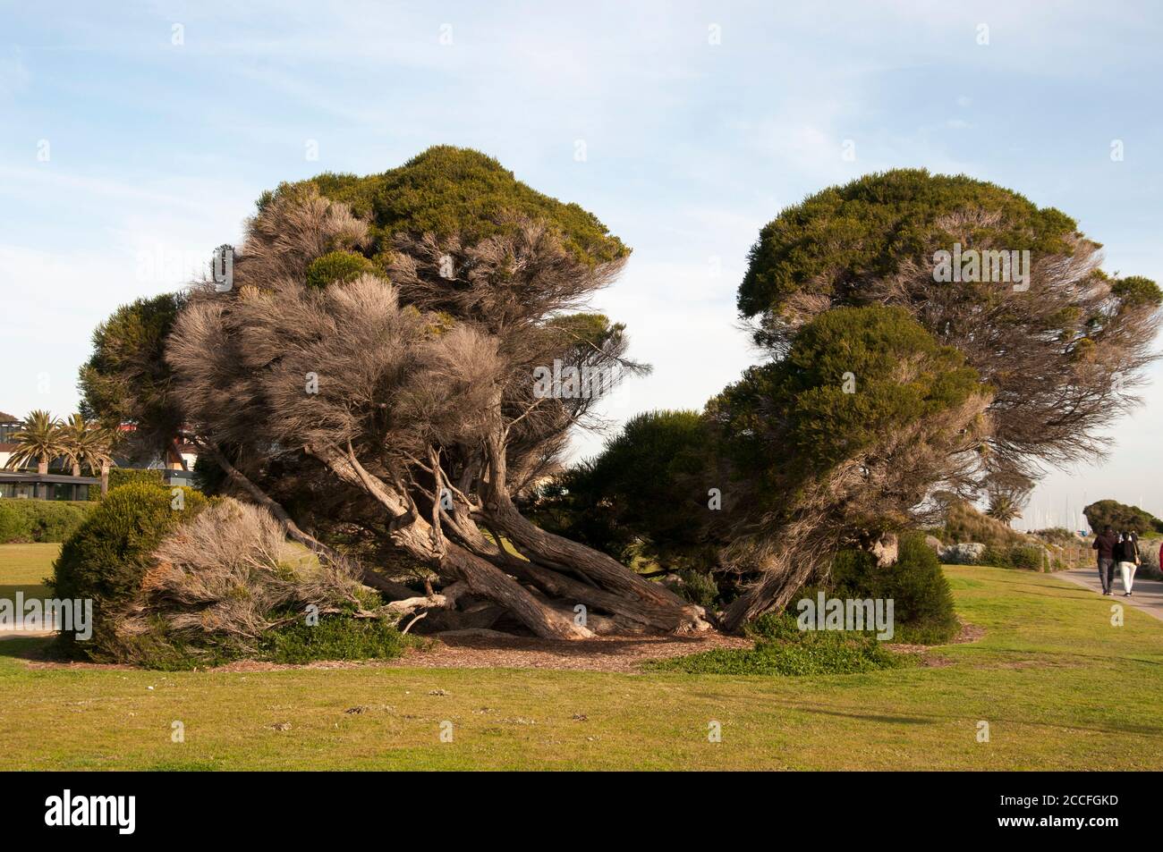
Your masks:
{"label": "shorter leaning front tree of right clump, with dark foliage on its left", "polygon": [[535,515],[714,573],[736,629],[822,580],[840,549],[878,552],[886,534],[932,522],[935,489],[972,493],[991,398],[902,308],[837,308],[701,415],[632,420]]}

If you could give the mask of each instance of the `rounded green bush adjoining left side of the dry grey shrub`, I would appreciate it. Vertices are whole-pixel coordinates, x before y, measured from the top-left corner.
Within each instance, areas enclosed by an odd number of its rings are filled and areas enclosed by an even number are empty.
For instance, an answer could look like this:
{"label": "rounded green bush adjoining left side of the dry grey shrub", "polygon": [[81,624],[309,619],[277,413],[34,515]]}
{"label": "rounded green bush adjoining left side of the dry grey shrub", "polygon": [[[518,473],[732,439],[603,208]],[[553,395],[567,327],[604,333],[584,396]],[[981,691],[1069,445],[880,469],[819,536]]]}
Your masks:
{"label": "rounded green bush adjoining left side of the dry grey shrub", "polygon": [[[184,508],[172,506],[171,489],[127,485],[109,492],[65,542],[53,564],[55,597],[92,599],[93,638],[85,651],[100,654],[113,642],[113,618],[141,588],[150,554],[165,534],[198,515],[200,493],[184,488]],[[71,635],[62,633],[66,645]]]}

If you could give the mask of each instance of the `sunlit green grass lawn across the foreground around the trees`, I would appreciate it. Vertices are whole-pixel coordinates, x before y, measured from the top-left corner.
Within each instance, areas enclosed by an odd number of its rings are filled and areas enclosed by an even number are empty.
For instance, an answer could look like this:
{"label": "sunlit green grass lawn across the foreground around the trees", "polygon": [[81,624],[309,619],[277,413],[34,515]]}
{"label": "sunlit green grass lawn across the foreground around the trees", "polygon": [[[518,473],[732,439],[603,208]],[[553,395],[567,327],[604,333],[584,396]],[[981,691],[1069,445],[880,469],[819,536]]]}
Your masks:
{"label": "sunlit green grass lawn across the foreground around the trees", "polygon": [[[56,547],[0,545],[0,583]],[[7,768],[1163,768],[1163,622],[1112,627],[1110,599],[1049,575],[947,572],[985,637],[854,675],[30,668],[43,639],[0,639],[0,743]]]}

